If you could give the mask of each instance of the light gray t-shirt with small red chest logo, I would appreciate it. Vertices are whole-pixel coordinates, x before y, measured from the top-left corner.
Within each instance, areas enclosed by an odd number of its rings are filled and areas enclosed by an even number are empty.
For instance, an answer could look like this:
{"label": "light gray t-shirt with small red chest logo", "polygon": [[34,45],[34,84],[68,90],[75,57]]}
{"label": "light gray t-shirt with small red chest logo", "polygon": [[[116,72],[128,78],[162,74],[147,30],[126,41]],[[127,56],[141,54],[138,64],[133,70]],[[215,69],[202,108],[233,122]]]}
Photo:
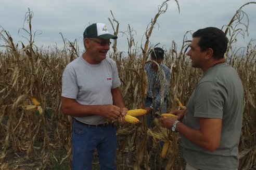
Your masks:
{"label": "light gray t-shirt with small red chest logo", "polygon": [[[89,64],[80,56],[62,74],[61,96],[73,98],[82,105],[113,104],[111,89],[120,84],[117,65],[112,59],[107,57],[99,64]],[[101,124],[107,119],[98,115],[75,118],[87,124]]]}

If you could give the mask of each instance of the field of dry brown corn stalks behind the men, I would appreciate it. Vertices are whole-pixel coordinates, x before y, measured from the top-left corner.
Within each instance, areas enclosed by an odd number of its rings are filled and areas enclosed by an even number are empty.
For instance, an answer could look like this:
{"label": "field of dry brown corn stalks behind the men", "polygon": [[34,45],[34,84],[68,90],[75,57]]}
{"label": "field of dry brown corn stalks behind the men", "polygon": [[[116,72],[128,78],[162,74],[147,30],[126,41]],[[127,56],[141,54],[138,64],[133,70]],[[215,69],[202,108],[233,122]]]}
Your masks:
{"label": "field of dry brown corn stalks behind the men", "polygon": [[[146,97],[144,66],[153,48],[150,36],[158,17],[168,9],[167,2],[159,6],[158,13],[146,27],[140,47],[130,25],[127,31],[119,32],[119,22],[111,12],[109,22],[113,31],[127,36],[127,54],[118,51],[116,39],[109,57],[117,63],[120,88],[129,109],[137,109],[139,98]],[[248,32],[248,17],[242,8],[254,4],[240,7],[222,27],[229,43],[225,54],[227,63],[239,73],[245,93],[238,169],[253,169],[256,162],[256,45],[251,40],[246,47],[236,46],[236,36]],[[60,109],[61,78],[66,65],[81,54],[80,49],[76,40],[71,42],[65,38],[62,49],[37,47],[33,41],[32,18],[33,12],[28,11],[25,15],[28,29],[21,29],[28,33],[26,43],[16,43],[11,34],[0,27],[0,42],[4,42],[1,45],[4,50],[0,51],[0,169],[71,169],[73,120]],[[202,75],[199,69],[191,67],[186,55],[190,41],[191,32],[187,32],[180,51],[174,41],[170,49],[165,49],[163,64],[171,70],[169,111],[178,108],[176,98],[186,105]],[[139,119],[138,124],[116,123],[118,169],[185,169],[180,136],[161,127],[157,118],[153,120],[152,129],[147,129],[145,116]],[[169,144],[165,158],[161,157],[160,141]],[[93,168],[98,167],[95,152]]]}

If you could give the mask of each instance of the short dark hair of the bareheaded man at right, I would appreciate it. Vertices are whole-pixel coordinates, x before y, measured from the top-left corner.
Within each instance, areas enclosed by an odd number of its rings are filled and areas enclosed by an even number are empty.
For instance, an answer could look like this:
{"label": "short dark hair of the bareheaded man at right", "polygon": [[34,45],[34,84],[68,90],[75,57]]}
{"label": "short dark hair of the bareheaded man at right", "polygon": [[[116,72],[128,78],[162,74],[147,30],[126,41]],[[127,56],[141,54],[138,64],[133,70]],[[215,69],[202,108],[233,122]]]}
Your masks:
{"label": "short dark hair of the bareheaded man at right", "polygon": [[206,27],[197,30],[192,36],[193,38],[200,38],[198,45],[201,51],[206,51],[208,48],[211,48],[215,59],[224,58],[228,41],[222,30],[217,29],[216,27]]}

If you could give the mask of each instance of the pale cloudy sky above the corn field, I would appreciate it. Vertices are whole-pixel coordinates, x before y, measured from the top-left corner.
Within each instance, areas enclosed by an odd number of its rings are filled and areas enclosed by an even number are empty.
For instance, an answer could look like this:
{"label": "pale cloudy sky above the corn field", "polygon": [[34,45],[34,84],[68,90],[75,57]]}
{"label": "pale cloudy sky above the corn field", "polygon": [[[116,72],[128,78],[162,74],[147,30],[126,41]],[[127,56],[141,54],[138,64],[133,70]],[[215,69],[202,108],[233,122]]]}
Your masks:
{"label": "pale cloudy sky above the corn field", "polygon": [[[0,32],[4,29],[17,44],[22,41],[28,45],[28,34],[19,31],[23,27],[29,30],[25,22],[25,13],[28,8],[33,11],[32,32],[35,33],[34,41],[37,47],[63,47],[63,38],[74,42],[76,39],[80,50],[83,50],[83,32],[92,23],[105,23],[108,31],[113,33],[108,18],[114,18],[119,22],[118,51],[127,53],[128,43],[126,34],[128,26],[133,29],[134,40],[137,46],[144,47],[145,31],[151,19],[158,12],[158,7],[164,1],[161,0],[0,0]],[[150,37],[151,45],[158,45],[164,49],[170,49],[172,41],[177,44],[178,50],[182,45],[183,37],[187,31],[195,32],[208,26],[222,29],[232,19],[236,10],[248,2],[245,0],[177,0],[168,1],[168,9],[162,13]],[[245,42],[256,38],[256,4],[250,4],[242,8],[249,17],[249,36],[238,39],[240,46],[246,46]],[[117,23],[114,23],[116,28]],[[224,29],[223,29],[224,30]],[[41,33],[41,34],[39,34]],[[62,36],[61,36],[61,34]],[[191,40],[191,35],[188,34]],[[0,38],[0,45],[3,41]]]}

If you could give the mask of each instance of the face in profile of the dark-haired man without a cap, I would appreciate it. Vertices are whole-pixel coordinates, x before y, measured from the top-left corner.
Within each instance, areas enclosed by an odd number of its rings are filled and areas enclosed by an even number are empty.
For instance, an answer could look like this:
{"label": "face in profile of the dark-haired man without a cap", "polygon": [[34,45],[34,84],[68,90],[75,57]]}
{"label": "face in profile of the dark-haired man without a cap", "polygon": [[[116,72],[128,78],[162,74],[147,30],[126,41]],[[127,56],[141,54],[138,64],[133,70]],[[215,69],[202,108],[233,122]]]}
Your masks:
{"label": "face in profile of the dark-haired man without a cap", "polygon": [[195,68],[203,68],[204,56],[207,53],[206,51],[201,51],[198,45],[199,40],[199,37],[194,37],[190,44],[190,49],[187,52],[187,55],[189,55],[191,59],[191,66]]}

